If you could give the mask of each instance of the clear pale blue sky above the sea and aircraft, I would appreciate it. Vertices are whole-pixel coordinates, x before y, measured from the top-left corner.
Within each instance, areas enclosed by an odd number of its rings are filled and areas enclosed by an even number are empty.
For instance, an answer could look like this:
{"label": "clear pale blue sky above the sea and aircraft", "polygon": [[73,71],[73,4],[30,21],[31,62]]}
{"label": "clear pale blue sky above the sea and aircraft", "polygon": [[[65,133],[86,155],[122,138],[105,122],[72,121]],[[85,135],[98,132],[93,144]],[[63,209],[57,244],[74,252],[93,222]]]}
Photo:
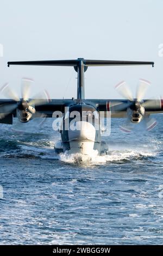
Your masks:
{"label": "clear pale blue sky above the sea and aircraft", "polygon": [[[125,80],[135,92],[139,78],[152,82],[146,98],[163,95],[162,0],[1,0],[0,85],[20,92],[21,77],[35,80],[33,93],[76,96],[71,67],[10,66],[14,60],[87,59],[154,61],[151,66],[92,67],[85,73],[87,98],[118,99],[114,86]],[[3,96],[1,95],[3,98]]]}

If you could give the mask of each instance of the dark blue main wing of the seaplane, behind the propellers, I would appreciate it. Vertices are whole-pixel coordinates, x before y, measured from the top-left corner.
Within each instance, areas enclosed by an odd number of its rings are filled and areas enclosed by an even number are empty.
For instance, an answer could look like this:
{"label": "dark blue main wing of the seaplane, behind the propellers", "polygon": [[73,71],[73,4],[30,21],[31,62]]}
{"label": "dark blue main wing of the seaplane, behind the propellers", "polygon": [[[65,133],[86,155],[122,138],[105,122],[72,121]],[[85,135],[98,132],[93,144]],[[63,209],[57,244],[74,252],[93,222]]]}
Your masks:
{"label": "dark blue main wing of the seaplane, behind the propellers", "polygon": [[[127,117],[127,109],[130,107],[129,100],[112,100],[112,99],[86,99],[85,103],[94,106],[97,111],[110,111],[112,118],[125,118]],[[145,102],[146,114],[163,113],[163,100],[143,100]],[[46,117],[52,118],[55,111],[65,112],[65,107],[70,107],[78,103],[74,99],[52,99],[50,102],[35,106],[36,112],[46,114]],[[16,112],[17,102],[14,100],[1,99],[0,100],[0,123],[12,124],[12,118],[17,117]],[[14,107],[12,107],[14,106]]]}

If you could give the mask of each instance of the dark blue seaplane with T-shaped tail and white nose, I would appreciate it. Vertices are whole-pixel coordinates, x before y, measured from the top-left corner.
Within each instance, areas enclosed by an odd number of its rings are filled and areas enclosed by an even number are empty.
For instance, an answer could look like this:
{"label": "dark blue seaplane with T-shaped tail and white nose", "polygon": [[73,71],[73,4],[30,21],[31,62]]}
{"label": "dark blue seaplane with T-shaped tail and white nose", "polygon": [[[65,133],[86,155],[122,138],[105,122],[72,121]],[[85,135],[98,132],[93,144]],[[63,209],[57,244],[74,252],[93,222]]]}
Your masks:
{"label": "dark blue seaplane with T-shaped tail and white nose", "polygon": [[[153,113],[163,112],[163,100],[143,100],[143,95],[149,86],[147,80],[141,79],[137,88],[136,98],[133,98],[126,82],[118,83],[116,89],[125,97],[124,100],[85,99],[84,72],[89,66],[116,66],[116,65],[152,65],[154,62],[121,61],[121,60],[87,60],[78,58],[74,60],[38,60],[25,62],[8,62],[10,65],[45,65],[45,66],[72,66],[78,73],[77,99],[52,99],[47,95],[39,94],[35,99],[29,98],[30,83],[28,78],[22,79],[21,99],[4,84],[1,92],[8,99],[0,100],[0,123],[12,124],[12,118],[18,118],[26,123],[36,117],[59,117],[61,124],[58,127],[61,141],[55,145],[55,151],[67,153],[91,154],[97,150],[101,154],[108,150],[102,140],[103,127],[101,113],[111,118],[126,118],[121,129],[130,132],[133,125],[141,121],[149,131],[156,121],[150,117]],[[55,119],[56,120],[56,119]]]}

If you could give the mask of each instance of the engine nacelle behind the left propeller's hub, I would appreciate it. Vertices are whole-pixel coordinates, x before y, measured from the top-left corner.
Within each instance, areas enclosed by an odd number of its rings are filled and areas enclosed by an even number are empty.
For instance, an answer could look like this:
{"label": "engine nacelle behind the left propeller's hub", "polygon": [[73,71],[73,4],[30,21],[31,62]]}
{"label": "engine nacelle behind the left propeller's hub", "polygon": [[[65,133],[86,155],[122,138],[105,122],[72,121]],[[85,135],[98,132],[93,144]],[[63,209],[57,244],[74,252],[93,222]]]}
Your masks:
{"label": "engine nacelle behind the left propeller's hub", "polygon": [[17,108],[17,118],[22,122],[22,123],[27,123],[29,120],[32,119],[33,114],[35,114],[35,108],[32,106],[29,106],[26,110],[20,110]]}

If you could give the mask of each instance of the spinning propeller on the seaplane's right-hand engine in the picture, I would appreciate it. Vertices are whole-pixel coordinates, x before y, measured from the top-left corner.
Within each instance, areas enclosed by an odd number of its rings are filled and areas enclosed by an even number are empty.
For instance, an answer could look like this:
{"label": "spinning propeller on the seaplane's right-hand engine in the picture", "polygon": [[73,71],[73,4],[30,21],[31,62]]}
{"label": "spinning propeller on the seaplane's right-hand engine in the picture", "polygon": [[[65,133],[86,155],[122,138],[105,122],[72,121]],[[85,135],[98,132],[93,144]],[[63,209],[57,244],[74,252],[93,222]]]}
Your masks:
{"label": "spinning propeller on the seaplane's right-hand engine in the picture", "polygon": [[127,121],[124,125],[120,126],[120,129],[124,132],[130,132],[133,130],[134,125],[138,124],[140,121],[143,121],[146,126],[146,130],[152,130],[156,126],[156,120],[151,118],[149,114],[146,114],[146,109],[155,108],[155,106],[160,106],[161,100],[143,100],[150,82],[141,78],[139,80],[139,85],[136,90],[136,99],[133,98],[133,95],[128,87],[128,84],[124,81],[118,83],[115,88],[118,93],[120,93],[124,98],[128,99],[127,107]]}

